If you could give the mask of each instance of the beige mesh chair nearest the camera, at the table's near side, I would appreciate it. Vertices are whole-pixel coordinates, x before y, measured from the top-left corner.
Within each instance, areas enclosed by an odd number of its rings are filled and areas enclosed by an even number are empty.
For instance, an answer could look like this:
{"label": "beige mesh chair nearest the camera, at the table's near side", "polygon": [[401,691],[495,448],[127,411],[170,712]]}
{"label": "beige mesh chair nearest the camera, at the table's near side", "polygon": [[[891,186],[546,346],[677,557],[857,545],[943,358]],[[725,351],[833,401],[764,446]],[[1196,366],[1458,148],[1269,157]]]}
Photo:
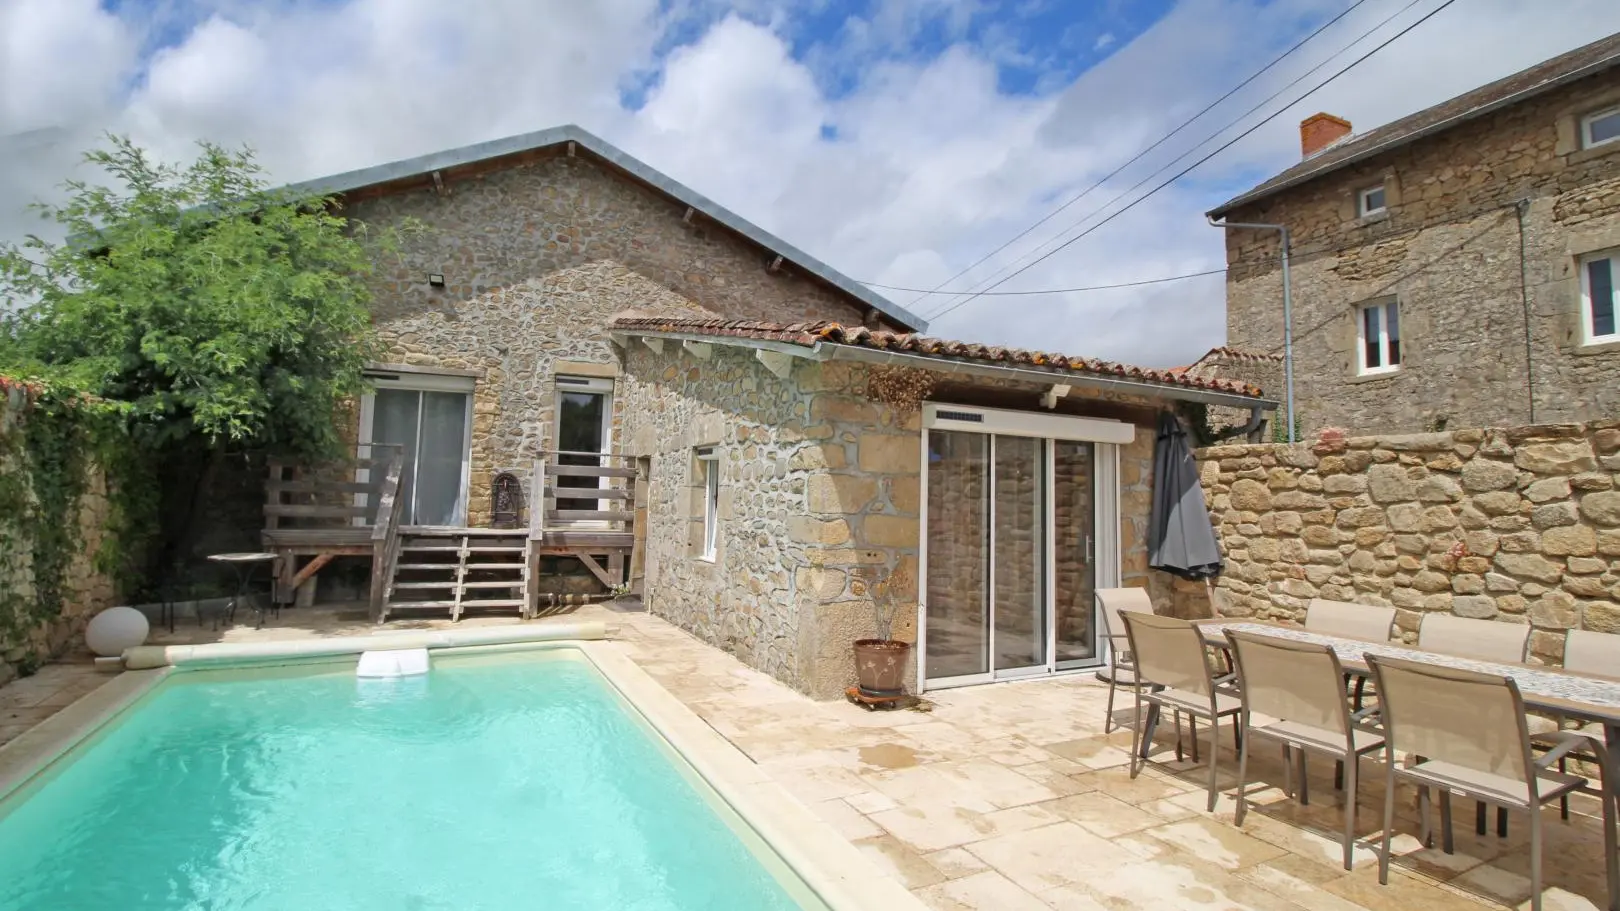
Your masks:
{"label": "beige mesh chair nearest the camera, at the table's near side", "polygon": [[[1458,794],[1503,809],[1529,812],[1531,911],[1541,911],[1541,807],[1588,785],[1584,778],[1550,768],[1573,749],[1594,752],[1607,768],[1601,741],[1573,731],[1536,739],[1552,746],[1534,759],[1524,726],[1524,700],[1511,678],[1476,674],[1439,665],[1367,655],[1379,686],[1388,778],[1383,796],[1383,836],[1379,845],[1379,882],[1390,880],[1390,836],[1395,827],[1395,783],[1419,788],[1422,843],[1430,843],[1429,791],[1440,796],[1443,849],[1452,853],[1452,796]],[[1403,752],[1409,765],[1395,762]],[[1607,783],[1604,783],[1607,786]],[[1615,883],[1615,801],[1604,806],[1604,862],[1610,906],[1620,896]]]}

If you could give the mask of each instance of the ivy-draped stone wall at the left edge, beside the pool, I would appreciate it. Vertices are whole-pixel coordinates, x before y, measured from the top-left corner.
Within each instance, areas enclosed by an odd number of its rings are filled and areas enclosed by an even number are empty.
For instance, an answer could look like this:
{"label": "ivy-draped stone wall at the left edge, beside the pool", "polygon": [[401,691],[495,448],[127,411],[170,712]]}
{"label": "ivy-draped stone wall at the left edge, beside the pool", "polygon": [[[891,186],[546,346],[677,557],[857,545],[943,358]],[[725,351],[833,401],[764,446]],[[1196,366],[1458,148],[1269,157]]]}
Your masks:
{"label": "ivy-draped stone wall at the left edge, beside the pool", "polygon": [[[21,433],[28,420],[28,399],[19,387],[0,386],[0,441]],[[8,459],[0,449],[0,475],[6,481],[24,481],[28,467]],[[92,468],[84,496],[78,503],[76,522],[83,548],[63,572],[62,613],[29,622],[21,616],[0,618],[0,684],[31,673],[49,658],[65,652],[84,632],[96,613],[112,606],[117,593],[112,579],[96,569],[109,517],[107,486],[100,470]],[[0,611],[26,609],[34,593],[34,541],[16,515],[0,515]],[[21,605],[18,605],[18,601]]]}

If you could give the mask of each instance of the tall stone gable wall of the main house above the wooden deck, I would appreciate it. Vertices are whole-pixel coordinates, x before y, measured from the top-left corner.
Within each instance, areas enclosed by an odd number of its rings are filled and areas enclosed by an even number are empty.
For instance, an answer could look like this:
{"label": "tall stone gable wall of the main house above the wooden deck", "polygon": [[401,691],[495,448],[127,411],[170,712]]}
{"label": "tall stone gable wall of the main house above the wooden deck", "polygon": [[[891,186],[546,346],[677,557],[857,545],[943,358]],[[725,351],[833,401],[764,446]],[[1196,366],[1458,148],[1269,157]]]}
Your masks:
{"label": "tall stone gable wall of the main house above the wooden deck", "polygon": [[[718,225],[585,159],[549,157],[348,203],[371,225],[426,230],[379,263],[374,318],[389,363],[475,371],[468,520],[489,519],[489,485],[528,483],[551,449],[559,363],[612,376],[604,326],[625,310],[747,319],[860,321],[847,298]],[[428,285],[437,272],[446,287]],[[622,410],[616,408],[616,418]],[[619,425],[616,423],[616,428]]]}

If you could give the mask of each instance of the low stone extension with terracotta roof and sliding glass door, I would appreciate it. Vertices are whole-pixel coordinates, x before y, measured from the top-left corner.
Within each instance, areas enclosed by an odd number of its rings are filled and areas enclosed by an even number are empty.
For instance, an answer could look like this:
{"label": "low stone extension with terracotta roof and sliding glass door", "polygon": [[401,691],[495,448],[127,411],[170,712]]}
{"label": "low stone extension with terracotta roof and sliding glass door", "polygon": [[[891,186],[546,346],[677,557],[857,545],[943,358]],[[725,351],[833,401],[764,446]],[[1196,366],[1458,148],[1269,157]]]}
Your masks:
{"label": "low stone extension with terracotta roof and sliding glass door", "polygon": [[1202,585],[1147,566],[1158,413],[1272,405],[1230,381],[833,323],[612,331],[624,447],[646,465],[650,609],[821,699],[852,682],[875,609],[920,642],[927,686],[1095,666],[1097,587],[1191,611]]}

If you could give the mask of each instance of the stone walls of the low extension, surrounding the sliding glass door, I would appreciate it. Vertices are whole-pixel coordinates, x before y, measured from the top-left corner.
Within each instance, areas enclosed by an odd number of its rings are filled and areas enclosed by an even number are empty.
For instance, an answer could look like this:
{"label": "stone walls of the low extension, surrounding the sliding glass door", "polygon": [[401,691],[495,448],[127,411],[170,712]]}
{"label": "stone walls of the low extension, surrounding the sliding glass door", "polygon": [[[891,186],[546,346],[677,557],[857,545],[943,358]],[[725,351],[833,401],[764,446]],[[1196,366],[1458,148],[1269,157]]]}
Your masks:
{"label": "stone walls of the low extension, surrounding the sliding glass door", "polygon": [[[1034,410],[1043,387],[980,381],[932,400]],[[850,644],[876,635],[873,588],[899,571],[896,639],[915,642],[922,537],[922,415],[870,396],[870,368],[791,361],[787,379],[747,349],[713,345],[698,358],[664,342],[632,340],[620,374],[624,452],[651,464],[646,483],[648,609],[816,699],[854,682]],[[1076,391],[1069,413],[1129,415],[1123,446],[1121,551],[1126,585],[1160,603],[1184,595],[1147,569],[1152,503],[1152,404]],[[719,456],[713,562],[701,556],[700,446]],[[935,569],[972,567],[970,554],[935,556]],[[941,569],[943,567],[943,569]],[[1004,595],[1016,595],[1006,582]],[[881,592],[888,592],[881,588]],[[915,658],[915,655],[912,655]],[[915,661],[907,687],[915,687]]]}

